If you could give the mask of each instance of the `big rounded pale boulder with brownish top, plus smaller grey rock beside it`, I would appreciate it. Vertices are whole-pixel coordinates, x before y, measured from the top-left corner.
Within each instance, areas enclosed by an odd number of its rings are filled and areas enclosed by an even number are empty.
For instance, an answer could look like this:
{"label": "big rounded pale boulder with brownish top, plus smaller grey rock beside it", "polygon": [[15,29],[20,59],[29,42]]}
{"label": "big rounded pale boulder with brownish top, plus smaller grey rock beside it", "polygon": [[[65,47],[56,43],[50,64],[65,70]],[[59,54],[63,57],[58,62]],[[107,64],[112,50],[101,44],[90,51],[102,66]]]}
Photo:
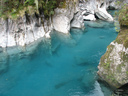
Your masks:
{"label": "big rounded pale boulder with brownish top, plus smaller grey rock beside it", "polygon": [[79,21],[80,14],[77,14],[74,17],[74,14],[79,11],[78,5],[79,5],[78,0],[69,0],[66,2],[65,8],[55,9],[55,15],[53,16],[53,27],[56,31],[62,33],[69,33],[70,23],[73,18],[74,20],[71,24],[72,27],[78,27],[78,28],[82,27],[81,21]]}

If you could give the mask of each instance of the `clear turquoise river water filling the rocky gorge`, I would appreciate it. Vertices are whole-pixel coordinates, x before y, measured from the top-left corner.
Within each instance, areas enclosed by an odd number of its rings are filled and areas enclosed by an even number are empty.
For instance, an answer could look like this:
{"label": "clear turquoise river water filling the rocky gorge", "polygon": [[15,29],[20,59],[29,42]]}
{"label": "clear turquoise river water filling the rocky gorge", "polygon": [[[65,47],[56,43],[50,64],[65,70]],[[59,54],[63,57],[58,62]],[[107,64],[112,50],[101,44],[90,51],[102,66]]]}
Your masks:
{"label": "clear turquoise river water filling the rocky gorge", "polygon": [[1,52],[0,96],[109,96],[96,72],[117,33],[107,22],[96,28],[85,23],[86,29],[71,29],[70,35],[52,32],[51,40],[35,42],[33,49]]}

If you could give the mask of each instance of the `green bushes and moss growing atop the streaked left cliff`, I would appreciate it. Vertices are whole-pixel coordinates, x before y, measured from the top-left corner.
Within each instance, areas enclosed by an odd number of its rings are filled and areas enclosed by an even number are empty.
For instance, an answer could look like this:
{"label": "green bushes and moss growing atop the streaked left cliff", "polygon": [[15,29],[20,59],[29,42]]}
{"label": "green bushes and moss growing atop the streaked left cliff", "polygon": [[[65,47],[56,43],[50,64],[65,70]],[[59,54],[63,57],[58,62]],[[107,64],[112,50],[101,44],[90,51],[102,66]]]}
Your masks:
{"label": "green bushes and moss growing atop the streaked left cliff", "polygon": [[65,0],[1,0],[0,17],[16,19],[28,14],[42,14],[49,18],[54,14],[54,9],[63,6]]}

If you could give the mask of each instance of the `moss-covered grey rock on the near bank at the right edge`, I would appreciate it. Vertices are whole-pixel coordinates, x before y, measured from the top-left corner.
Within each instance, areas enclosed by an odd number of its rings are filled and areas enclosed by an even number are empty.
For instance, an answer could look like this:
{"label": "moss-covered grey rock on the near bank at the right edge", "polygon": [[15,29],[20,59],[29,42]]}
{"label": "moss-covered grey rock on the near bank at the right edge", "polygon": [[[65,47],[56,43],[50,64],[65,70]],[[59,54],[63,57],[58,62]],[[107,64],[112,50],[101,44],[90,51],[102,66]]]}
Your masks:
{"label": "moss-covered grey rock on the near bank at the right edge", "polygon": [[120,32],[101,57],[98,74],[119,88],[128,83],[128,5],[119,12]]}

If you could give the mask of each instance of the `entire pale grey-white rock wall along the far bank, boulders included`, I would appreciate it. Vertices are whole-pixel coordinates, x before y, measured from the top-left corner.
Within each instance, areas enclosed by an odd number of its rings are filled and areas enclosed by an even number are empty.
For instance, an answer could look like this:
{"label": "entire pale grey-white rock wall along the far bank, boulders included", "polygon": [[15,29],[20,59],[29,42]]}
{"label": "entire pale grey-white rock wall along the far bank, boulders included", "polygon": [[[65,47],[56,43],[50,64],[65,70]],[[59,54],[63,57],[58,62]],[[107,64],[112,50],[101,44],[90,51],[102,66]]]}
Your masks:
{"label": "entire pale grey-white rock wall along the far bank, boulders included", "polygon": [[99,19],[113,21],[106,11],[111,5],[110,0],[65,0],[64,6],[55,9],[54,16],[49,20],[42,15],[25,14],[18,19],[0,18],[0,46],[25,46],[41,37],[50,38],[50,32],[69,33],[71,27],[84,27],[83,20]]}

